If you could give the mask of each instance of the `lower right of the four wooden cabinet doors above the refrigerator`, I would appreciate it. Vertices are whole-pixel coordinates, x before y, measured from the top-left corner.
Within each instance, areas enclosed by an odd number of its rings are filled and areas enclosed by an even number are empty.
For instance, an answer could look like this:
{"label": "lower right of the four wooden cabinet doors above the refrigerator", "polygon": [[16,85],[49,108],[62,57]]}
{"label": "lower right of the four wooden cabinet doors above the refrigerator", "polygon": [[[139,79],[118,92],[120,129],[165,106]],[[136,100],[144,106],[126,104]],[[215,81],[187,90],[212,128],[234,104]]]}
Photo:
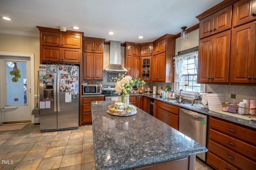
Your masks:
{"label": "lower right of the four wooden cabinet doors above the refrigerator", "polygon": [[80,63],[81,62],[81,50],[80,49],[68,49],[62,48],[62,61]]}

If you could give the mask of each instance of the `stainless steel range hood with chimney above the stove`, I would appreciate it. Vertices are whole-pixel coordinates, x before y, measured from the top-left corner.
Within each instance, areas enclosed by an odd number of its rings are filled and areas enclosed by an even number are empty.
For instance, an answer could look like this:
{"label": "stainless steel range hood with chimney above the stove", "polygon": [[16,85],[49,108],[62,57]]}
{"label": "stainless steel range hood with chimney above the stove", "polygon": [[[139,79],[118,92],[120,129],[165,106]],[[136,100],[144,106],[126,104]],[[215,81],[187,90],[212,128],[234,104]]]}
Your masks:
{"label": "stainless steel range hood with chimney above the stove", "polygon": [[110,41],[110,64],[105,69],[106,71],[127,71],[121,65],[121,42],[120,41]]}

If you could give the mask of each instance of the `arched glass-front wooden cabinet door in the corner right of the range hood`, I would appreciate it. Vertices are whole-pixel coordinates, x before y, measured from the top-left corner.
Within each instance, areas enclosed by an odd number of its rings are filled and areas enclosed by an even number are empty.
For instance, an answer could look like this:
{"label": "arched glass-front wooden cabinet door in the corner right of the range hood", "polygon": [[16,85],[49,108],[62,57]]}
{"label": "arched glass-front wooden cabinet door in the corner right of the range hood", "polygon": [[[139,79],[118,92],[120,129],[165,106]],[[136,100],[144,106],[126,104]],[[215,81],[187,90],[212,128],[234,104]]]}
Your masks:
{"label": "arched glass-front wooden cabinet door in the corner right of the range hood", "polygon": [[144,81],[151,81],[151,62],[152,57],[141,57],[141,76]]}

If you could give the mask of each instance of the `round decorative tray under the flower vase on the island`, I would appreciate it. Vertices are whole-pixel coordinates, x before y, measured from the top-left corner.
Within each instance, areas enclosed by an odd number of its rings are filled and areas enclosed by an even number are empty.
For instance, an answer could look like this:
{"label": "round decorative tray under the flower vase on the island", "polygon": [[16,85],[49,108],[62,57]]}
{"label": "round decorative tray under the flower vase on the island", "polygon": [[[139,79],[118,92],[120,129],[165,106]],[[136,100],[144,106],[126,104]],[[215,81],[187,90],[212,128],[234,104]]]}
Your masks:
{"label": "round decorative tray under the flower vase on the island", "polygon": [[107,112],[110,115],[114,115],[114,116],[132,116],[137,114],[136,107],[130,104],[128,105],[128,107],[130,107],[130,110],[115,110],[115,105],[110,105],[108,106]]}

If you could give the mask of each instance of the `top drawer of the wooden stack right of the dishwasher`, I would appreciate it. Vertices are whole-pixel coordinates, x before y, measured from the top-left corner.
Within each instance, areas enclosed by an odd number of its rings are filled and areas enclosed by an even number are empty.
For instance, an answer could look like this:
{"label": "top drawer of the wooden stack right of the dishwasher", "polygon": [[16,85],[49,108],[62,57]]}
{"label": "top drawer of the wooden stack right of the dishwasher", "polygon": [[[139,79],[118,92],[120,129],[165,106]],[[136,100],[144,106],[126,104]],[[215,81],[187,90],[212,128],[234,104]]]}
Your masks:
{"label": "top drawer of the wooden stack right of the dishwasher", "polygon": [[235,123],[210,117],[210,128],[222,131],[256,145],[256,131],[250,129],[249,127],[242,127],[241,125],[237,125]]}

